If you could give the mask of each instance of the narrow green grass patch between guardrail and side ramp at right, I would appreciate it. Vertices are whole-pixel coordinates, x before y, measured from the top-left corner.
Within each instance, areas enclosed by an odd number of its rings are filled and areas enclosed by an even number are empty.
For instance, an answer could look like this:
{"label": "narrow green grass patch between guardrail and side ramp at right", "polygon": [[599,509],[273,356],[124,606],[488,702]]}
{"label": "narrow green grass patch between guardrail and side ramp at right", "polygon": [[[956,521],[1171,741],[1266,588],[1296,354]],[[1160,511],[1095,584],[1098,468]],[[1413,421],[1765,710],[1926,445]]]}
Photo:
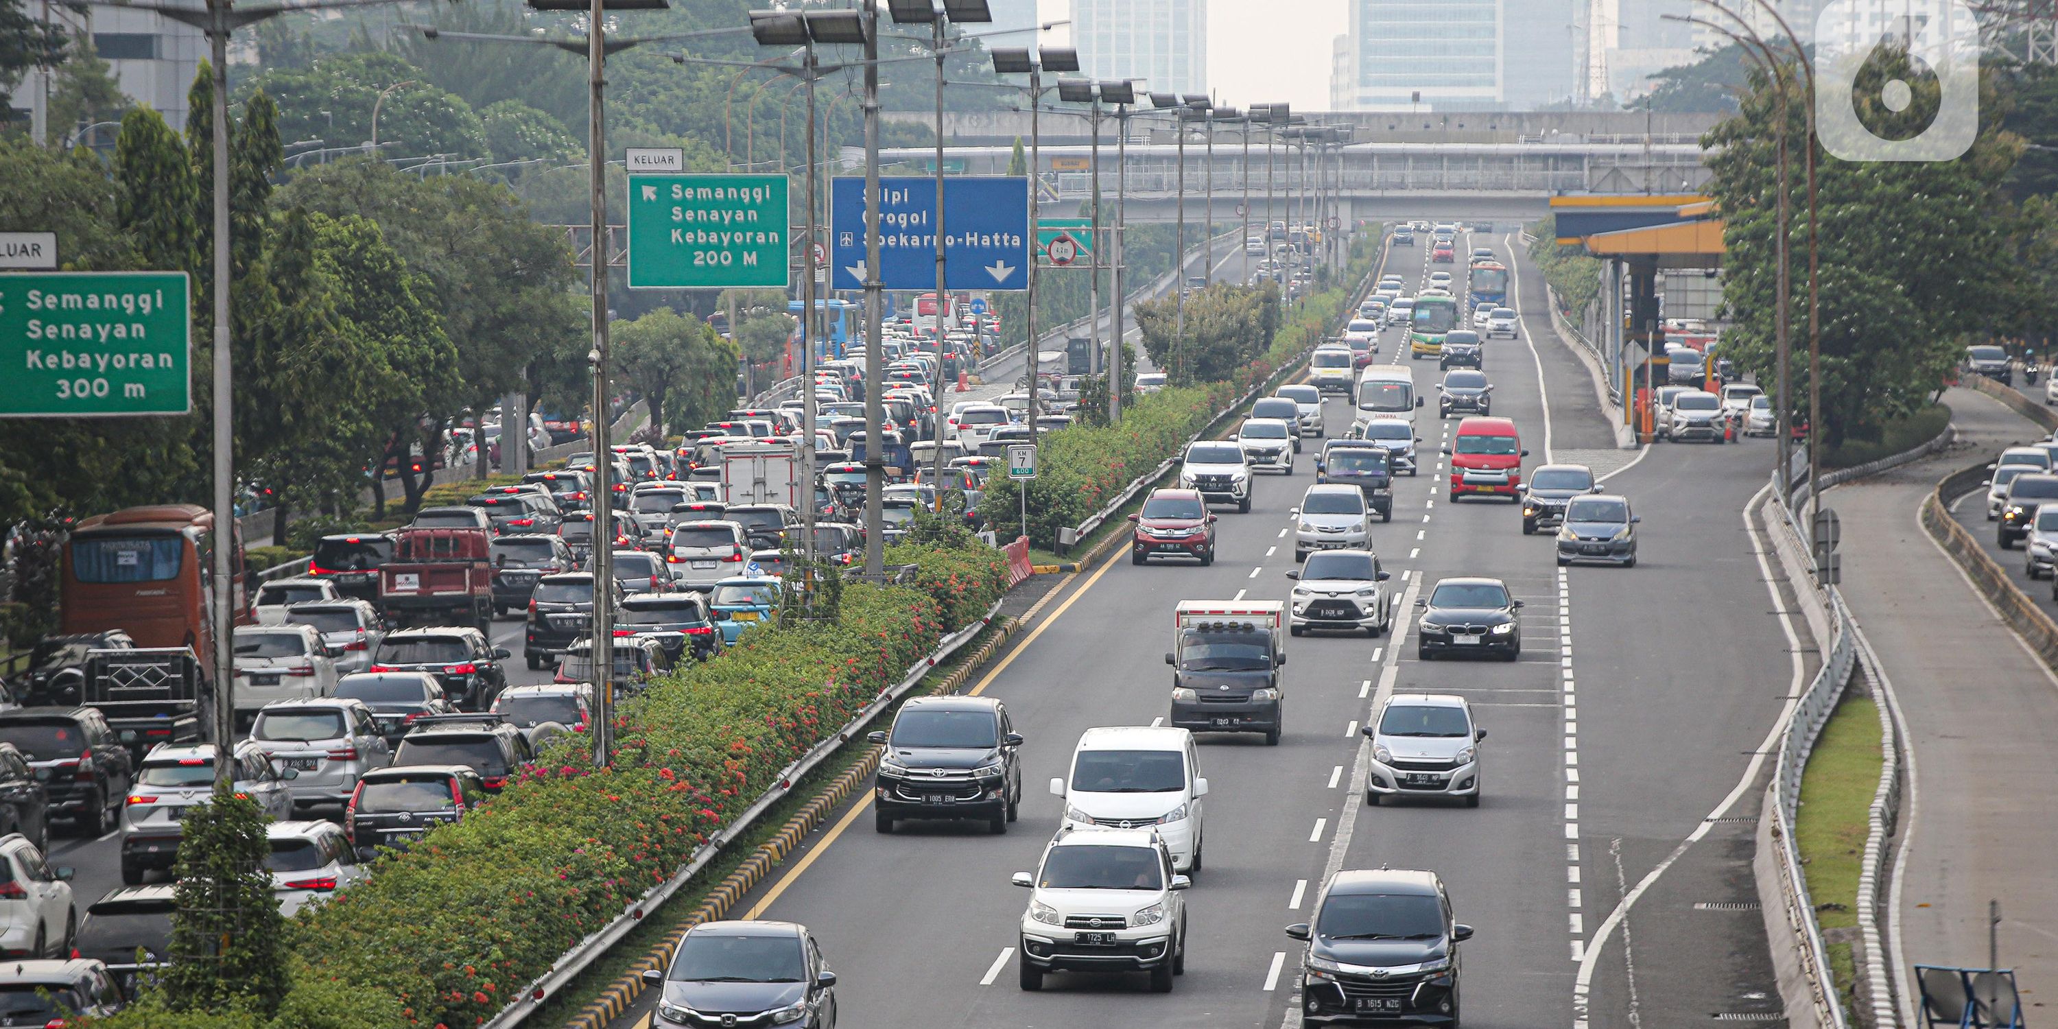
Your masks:
{"label": "narrow green grass patch between guardrail and side ramp at right", "polygon": [[[1846,696],[1809,753],[1801,774],[1801,813],[1795,819],[1801,868],[1815,901],[1815,922],[1825,936],[1858,924],[1858,866],[1865,860],[1865,838],[1871,831],[1867,817],[1873,792],[1879,790],[1881,761],[1879,708],[1871,698]],[[1828,951],[1836,996],[1850,1013],[1856,988],[1850,943],[1828,943]]]}

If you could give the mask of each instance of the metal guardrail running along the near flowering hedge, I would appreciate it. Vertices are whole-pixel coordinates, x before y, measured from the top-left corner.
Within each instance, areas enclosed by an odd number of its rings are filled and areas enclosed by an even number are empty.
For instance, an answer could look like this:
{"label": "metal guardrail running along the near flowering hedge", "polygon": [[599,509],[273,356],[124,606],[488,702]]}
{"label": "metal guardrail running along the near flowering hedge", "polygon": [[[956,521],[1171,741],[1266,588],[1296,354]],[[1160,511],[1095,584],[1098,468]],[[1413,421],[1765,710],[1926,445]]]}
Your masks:
{"label": "metal guardrail running along the near flowering hedge", "polygon": [[766,792],[759,794],[757,801],[751,803],[751,807],[743,809],[743,813],[739,813],[735,819],[722,825],[720,831],[708,838],[708,842],[694,852],[691,860],[687,860],[685,866],[673,873],[671,879],[665,879],[663,883],[646,891],[634,903],[624,908],[624,912],[615,916],[613,922],[607,922],[591,936],[580,941],[576,947],[560,955],[558,961],[552,963],[549,971],[545,971],[529,986],[523,986],[523,990],[514,994],[519,1000],[500,1008],[500,1013],[488,1019],[484,1027],[508,1029],[521,1025],[531,1015],[535,1015],[545,1000],[558,996],[558,992],[564,990],[566,984],[584,973],[595,961],[599,961],[601,955],[605,955],[613,945],[622,943],[624,936],[628,936],[636,926],[640,926],[648,912],[654,912],[659,906],[671,899],[671,895],[677,893],[681,887],[685,887],[702,868],[708,866],[708,862],[720,856],[722,848],[726,848],[739,836],[749,831],[749,827],[755,825],[755,821],[766,811],[778,805],[792,790],[790,784],[801,782],[803,776],[813,772],[815,766],[819,766],[823,759],[836,753],[844,743],[856,739],[858,731],[864,729],[866,722],[877,718],[879,712],[893,706],[893,702],[897,702],[908,689],[914,689],[914,685],[920,683],[930,673],[930,669],[936,667],[936,663],[949,659],[961,646],[971,642],[971,638],[978,636],[980,630],[984,630],[994,619],[996,613],[1000,613],[1000,601],[994,601],[994,605],[986,609],[986,613],[980,617],[978,624],[965,626],[953,632],[951,636],[938,640],[936,650],[916,661],[916,665],[908,669],[908,675],[901,677],[899,683],[881,691],[848,722],[844,722],[833,733],[823,735],[813,747],[807,749],[807,753],[803,753],[792,764],[782,768],[774,778],[774,784],[766,788]]}

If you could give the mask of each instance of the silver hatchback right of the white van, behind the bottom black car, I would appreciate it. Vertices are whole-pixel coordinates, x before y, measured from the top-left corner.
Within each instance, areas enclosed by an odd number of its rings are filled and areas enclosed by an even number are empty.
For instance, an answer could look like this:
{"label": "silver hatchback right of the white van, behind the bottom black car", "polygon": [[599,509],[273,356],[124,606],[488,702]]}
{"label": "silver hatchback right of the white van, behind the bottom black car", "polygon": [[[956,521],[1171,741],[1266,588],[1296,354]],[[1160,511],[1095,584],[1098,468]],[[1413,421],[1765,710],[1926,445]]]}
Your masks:
{"label": "silver hatchback right of the white van, behind the bottom black car", "polygon": [[1362,733],[1373,741],[1367,805],[1379,807],[1385,796],[1463,796],[1465,807],[1480,807],[1486,731],[1465,698],[1393,694]]}

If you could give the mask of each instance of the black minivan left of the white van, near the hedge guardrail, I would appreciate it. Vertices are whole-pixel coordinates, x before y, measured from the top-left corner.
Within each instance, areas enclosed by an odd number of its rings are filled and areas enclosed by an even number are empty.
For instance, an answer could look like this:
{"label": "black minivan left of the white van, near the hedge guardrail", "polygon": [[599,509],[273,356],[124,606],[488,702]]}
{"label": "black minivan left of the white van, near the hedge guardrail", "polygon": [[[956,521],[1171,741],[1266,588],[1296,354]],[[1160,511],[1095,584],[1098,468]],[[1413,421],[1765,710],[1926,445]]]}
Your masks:
{"label": "black minivan left of the white van, near the hedge guardrail", "polygon": [[984,819],[1008,831],[1023,799],[1021,745],[1008,710],[994,698],[916,698],[901,704],[883,743],[875,782],[875,827],[895,819]]}

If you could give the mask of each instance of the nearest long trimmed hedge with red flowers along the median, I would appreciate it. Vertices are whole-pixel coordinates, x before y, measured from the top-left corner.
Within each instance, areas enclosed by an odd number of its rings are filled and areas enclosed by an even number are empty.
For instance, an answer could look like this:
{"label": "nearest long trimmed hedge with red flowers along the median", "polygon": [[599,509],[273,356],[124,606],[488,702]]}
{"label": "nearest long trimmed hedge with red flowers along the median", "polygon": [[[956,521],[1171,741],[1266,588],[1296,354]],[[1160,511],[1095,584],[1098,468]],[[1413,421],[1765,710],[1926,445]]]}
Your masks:
{"label": "nearest long trimmed hedge with red flowers along the median", "polygon": [[[895,547],[914,587],[848,584],[836,624],[745,632],[714,661],[626,698],[615,761],[545,749],[486,807],[438,827],[290,928],[294,975],[327,1025],[477,1025],[572,945],[685,864],[794,757],[899,681],[1004,591],[992,547]],[[397,1021],[383,1019],[397,1006]],[[230,1019],[233,1023],[235,1019]],[[154,1027],[161,1010],[97,1025]],[[251,1025],[313,1025],[253,1021]]]}

